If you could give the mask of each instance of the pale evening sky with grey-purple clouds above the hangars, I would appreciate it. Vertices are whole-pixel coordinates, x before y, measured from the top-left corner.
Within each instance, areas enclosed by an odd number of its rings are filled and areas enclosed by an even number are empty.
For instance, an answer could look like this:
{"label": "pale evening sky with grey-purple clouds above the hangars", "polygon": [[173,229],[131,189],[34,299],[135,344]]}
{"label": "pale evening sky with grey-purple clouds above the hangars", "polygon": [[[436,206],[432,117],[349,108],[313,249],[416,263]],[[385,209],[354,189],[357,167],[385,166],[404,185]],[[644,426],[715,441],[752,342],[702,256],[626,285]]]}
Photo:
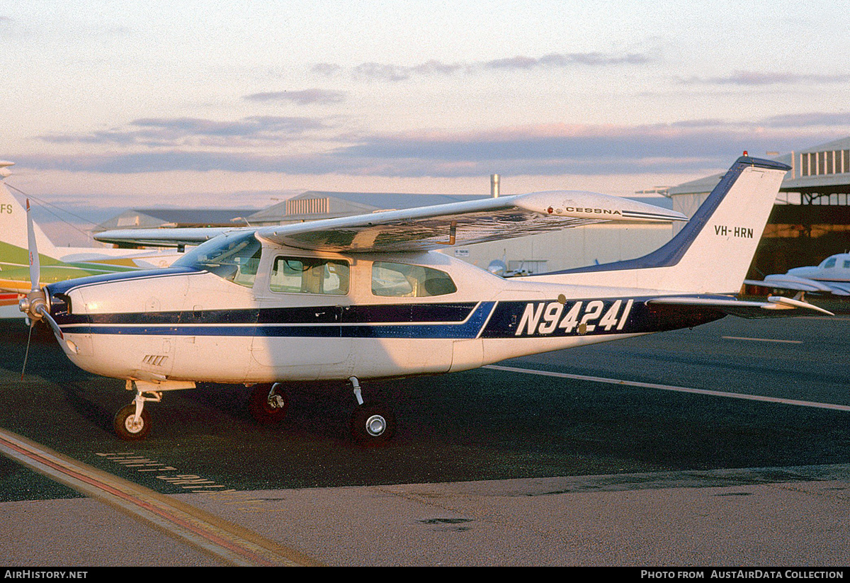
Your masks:
{"label": "pale evening sky with grey-purple clouds above the hangars", "polygon": [[77,224],[492,173],[633,195],[850,135],[841,3],[6,0],[0,71],[7,183]]}

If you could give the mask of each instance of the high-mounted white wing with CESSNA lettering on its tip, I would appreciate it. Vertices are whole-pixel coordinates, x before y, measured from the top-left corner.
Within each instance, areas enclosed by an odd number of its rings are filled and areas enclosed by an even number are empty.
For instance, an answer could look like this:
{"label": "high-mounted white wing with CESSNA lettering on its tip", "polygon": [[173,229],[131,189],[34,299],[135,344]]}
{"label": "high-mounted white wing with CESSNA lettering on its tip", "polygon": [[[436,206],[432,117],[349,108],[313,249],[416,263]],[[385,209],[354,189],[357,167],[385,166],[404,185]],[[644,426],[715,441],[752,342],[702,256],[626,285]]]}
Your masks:
{"label": "high-mounted white wing with CESSNA lettering on its tip", "polygon": [[[414,252],[533,235],[607,221],[686,221],[681,212],[619,196],[555,190],[373,212],[254,229],[280,245],[333,252]],[[196,245],[241,229],[122,229],[98,241]]]}

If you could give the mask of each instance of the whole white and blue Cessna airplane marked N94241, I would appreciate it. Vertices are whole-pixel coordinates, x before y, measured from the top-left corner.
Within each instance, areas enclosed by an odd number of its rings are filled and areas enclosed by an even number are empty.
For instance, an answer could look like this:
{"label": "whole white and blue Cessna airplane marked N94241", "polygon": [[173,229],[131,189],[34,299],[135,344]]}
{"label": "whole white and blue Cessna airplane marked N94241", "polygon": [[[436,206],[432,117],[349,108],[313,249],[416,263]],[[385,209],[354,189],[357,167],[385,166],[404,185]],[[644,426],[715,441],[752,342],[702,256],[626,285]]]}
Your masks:
{"label": "whole white and blue Cessna airplane marked N94241", "polygon": [[76,365],[135,392],[115,418],[123,439],[149,433],[144,405],[167,391],[252,387],[252,413],[272,422],[286,415],[286,385],[326,380],[350,382],[354,437],[381,444],[394,416],[364,401],[365,379],[467,371],[727,314],[825,312],[802,297],[735,297],[787,170],[740,157],[671,241],[629,261],[503,279],[436,251],[606,220],[686,220],[620,197],[553,191],[220,235],[137,230],[119,239],[217,236],[167,269],[39,287],[35,263],[20,309],[47,320]]}

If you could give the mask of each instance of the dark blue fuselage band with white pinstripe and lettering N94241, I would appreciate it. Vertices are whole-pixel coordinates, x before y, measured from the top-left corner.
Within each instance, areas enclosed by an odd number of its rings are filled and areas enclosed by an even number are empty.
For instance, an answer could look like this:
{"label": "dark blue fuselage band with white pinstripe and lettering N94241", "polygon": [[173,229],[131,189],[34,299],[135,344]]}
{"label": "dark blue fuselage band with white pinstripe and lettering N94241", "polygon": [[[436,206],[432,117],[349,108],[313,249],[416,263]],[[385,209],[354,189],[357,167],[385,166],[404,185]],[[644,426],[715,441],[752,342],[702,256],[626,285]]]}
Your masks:
{"label": "dark blue fuselage band with white pinstripe and lettering N94241", "polygon": [[643,334],[718,320],[702,306],[648,305],[650,297],[253,308],[56,315],[68,334],[326,338],[547,338]]}

